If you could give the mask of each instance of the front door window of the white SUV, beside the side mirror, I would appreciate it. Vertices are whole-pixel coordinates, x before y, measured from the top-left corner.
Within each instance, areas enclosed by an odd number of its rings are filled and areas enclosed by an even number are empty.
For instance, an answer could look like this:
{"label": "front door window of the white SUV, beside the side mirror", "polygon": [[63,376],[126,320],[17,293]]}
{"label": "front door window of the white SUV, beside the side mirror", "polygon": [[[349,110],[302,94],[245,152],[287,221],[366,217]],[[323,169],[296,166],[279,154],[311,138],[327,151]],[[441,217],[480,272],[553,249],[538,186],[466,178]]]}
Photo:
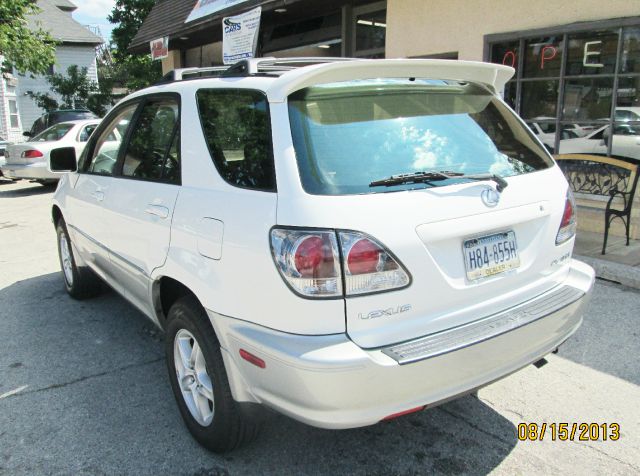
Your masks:
{"label": "front door window of the white SUV, beside the side mirror", "polygon": [[93,149],[93,157],[87,172],[99,175],[113,175],[113,168],[118,160],[118,151],[137,106],[137,104],[131,104],[125,107],[103,129]]}

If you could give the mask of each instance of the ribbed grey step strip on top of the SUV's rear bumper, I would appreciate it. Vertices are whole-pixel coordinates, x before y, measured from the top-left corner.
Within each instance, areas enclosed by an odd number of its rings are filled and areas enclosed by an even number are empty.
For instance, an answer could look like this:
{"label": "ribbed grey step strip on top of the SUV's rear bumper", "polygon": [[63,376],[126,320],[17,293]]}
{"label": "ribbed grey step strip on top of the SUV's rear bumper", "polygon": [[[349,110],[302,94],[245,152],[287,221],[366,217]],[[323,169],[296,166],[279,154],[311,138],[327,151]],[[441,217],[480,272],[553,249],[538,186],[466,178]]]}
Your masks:
{"label": "ribbed grey step strip on top of the SUV's rear bumper", "polygon": [[380,350],[400,365],[428,359],[530,324],[574,303],[584,294],[572,286],[562,286],[507,311]]}

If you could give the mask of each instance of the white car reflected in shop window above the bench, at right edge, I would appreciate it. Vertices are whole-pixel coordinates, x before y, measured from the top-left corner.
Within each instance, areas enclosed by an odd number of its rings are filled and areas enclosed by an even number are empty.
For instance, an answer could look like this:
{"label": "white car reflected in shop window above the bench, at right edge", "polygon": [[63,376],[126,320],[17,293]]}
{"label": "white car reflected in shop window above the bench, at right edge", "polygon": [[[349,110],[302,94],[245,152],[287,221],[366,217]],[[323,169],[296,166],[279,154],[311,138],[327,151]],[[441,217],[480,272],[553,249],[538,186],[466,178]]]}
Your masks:
{"label": "white car reflected in shop window above the bench, at right edge", "polygon": [[[560,141],[561,154],[606,155],[610,138],[609,126],[602,126],[587,137]],[[613,128],[611,155],[640,160],[640,126],[616,124]]]}

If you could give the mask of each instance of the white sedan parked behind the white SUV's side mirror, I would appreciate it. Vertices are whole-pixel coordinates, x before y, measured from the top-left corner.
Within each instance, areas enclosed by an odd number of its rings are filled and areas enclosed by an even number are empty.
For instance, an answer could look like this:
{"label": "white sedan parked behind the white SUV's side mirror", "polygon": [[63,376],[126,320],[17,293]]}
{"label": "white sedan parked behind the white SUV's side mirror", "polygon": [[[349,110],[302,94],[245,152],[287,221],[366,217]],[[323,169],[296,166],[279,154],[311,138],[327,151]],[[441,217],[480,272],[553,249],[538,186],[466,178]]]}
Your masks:
{"label": "white sedan parked behind the white SUV's side mirror", "polygon": [[49,169],[50,153],[60,147],[73,147],[80,155],[99,119],[56,124],[27,142],[9,145],[5,151],[2,174],[10,179],[28,179],[42,184],[57,182],[60,174]]}

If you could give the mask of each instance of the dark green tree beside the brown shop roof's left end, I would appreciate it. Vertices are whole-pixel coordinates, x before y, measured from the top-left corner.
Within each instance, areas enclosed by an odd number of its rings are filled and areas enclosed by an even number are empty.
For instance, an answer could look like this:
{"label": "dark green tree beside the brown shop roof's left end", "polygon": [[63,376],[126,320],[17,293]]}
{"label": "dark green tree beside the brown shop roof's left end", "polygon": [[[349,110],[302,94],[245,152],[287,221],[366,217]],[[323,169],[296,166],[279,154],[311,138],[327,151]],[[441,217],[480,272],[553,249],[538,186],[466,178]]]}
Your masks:
{"label": "dark green tree beside the brown shop roof's left end", "polygon": [[152,61],[149,55],[132,55],[127,51],[154,4],[155,0],[116,0],[107,17],[109,22],[116,24],[111,32],[114,77],[130,90],[154,84],[162,77],[159,61]]}

